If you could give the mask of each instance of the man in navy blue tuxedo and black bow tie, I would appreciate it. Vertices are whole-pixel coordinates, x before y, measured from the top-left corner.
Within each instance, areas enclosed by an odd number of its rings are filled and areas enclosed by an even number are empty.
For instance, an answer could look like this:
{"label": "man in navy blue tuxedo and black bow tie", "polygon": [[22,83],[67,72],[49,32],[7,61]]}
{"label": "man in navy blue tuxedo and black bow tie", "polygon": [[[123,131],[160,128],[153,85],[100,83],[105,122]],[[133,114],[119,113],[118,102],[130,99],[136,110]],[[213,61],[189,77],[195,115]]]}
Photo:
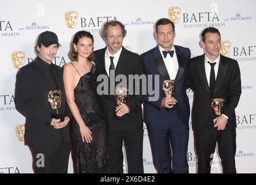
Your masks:
{"label": "man in navy blue tuxedo and black bow tie", "polygon": [[[159,76],[159,83],[155,80],[152,83],[153,90],[159,91],[159,98],[148,96],[144,103],[144,121],[148,125],[158,173],[188,173],[186,153],[190,108],[185,77],[191,52],[188,48],[173,45],[175,26],[169,19],[160,18],[155,27],[159,45],[142,54],[142,57],[147,74],[152,75],[153,79]],[[166,97],[162,82],[174,79],[175,95]]]}

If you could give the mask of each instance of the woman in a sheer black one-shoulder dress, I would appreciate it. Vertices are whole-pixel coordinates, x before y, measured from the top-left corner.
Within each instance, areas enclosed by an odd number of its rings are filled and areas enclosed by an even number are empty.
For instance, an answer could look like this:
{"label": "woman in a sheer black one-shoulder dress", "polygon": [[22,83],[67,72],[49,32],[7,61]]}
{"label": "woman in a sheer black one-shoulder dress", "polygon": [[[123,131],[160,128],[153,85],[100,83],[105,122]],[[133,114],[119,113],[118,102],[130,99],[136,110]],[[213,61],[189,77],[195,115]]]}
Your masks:
{"label": "woman in a sheer black one-shoulder dress", "polygon": [[75,173],[109,173],[107,128],[103,105],[97,94],[97,71],[90,32],[75,34],[64,66],[63,80],[71,119]]}

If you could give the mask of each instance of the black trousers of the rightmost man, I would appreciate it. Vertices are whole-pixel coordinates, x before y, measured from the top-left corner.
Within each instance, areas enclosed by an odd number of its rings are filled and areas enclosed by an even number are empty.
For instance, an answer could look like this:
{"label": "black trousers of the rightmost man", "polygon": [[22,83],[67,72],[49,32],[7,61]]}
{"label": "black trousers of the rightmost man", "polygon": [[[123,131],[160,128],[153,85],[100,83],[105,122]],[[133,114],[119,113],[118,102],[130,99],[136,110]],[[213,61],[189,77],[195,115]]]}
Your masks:
{"label": "black trousers of the rightmost man", "polygon": [[204,129],[195,131],[198,173],[210,173],[216,142],[223,173],[236,173],[236,129],[218,131],[209,123]]}

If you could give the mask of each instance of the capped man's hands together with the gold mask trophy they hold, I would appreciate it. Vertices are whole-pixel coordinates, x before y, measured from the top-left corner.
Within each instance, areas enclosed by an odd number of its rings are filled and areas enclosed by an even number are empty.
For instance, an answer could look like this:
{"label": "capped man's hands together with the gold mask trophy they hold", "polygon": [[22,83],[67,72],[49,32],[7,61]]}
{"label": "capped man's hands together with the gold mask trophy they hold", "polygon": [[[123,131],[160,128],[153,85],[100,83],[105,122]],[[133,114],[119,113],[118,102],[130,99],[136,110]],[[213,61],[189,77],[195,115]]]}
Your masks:
{"label": "capped man's hands together with the gold mask trophy they hold", "polygon": [[64,114],[60,112],[61,107],[61,90],[52,90],[47,93],[47,102],[50,108],[56,110],[56,114],[52,114],[52,125],[55,129],[64,128],[70,121],[69,117],[64,118]]}

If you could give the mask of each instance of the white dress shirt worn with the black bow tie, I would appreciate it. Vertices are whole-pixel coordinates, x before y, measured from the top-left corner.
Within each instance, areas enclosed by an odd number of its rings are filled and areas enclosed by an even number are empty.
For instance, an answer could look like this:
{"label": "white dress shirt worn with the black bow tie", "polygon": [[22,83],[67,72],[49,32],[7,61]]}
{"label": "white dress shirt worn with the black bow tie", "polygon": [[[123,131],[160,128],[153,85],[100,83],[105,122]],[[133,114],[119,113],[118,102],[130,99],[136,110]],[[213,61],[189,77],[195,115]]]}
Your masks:
{"label": "white dress shirt worn with the black bow tie", "polygon": [[178,72],[178,60],[177,60],[174,46],[171,49],[174,51],[173,57],[171,57],[170,54],[167,54],[166,58],[164,58],[163,51],[166,51],[166,50],[164,50],[160,45],[159,45],[159,50],[162,55],[164,65],[166,66],[167,72],[170,76],[170,79],[175,80],[175,77]]}

